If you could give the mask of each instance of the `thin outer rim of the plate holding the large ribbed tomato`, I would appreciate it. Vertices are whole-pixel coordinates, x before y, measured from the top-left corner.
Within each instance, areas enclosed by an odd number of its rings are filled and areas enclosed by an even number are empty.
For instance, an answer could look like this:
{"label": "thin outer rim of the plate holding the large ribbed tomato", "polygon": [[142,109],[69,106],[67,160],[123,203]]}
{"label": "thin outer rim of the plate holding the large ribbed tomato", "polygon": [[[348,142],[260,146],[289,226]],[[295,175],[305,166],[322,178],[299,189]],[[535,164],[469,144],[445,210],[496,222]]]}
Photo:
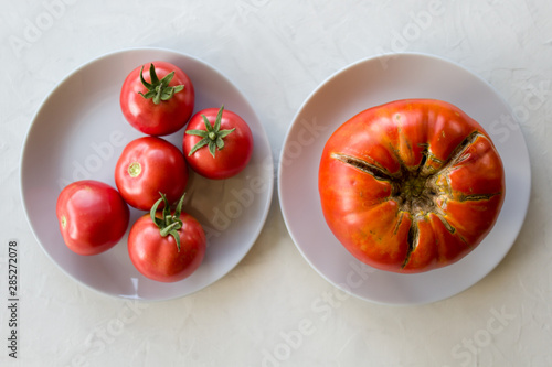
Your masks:
{"label": "thin outer rim of the plate holding the large ribbed tomato", "polygon": [[[291,123],[289,125],[288,129],[287,129],[287,132],[285,134],[285,138],[284,138],[284,141],[283,141],[283,145],[282,145],[282,151],[280,151],[280,154],[278,156],[278,171],[277,171],[277,191],[278,191],[278,199],[279,199],[279,207],[280,207],[280,212],[282,212],[282,215],[283,215],[283,218],[284,218],[284,223],[286,225],[286,228],[289,233],[289,236],[291,237],[291,240],[294,241],[294,245],[296,246],[296,248],[298,249],[299,253],[301,253],[302,258],[307,261],[307,263],[309,263],[309,266],[319,274],[321,276],[321,278],[323,278],[326,281],[328,281],[331,285],[336,287],[337,289],[357,298],[357,299],[360,299],[360,300],[363,300],[365,302],[370,302],[370,303],[374,303],[374,304],[380,304],[380,305],[389,305],[389,306],[408,306],[408,305],[421,305],[421,304],[429,304],[429,303],[435,303],[435,302],[439,302],[439,301],[444,301],[444,300],[447,300],[447,299],[450,299],[455,295],[458,295],[465,291],[467,291],[468,289],[470,289],[471,287],[474,287],[475,284],[477,284],[478,282],[480,282],[484,278],[486,278],[492,270],[495,270],[499,265],[500,262],[502,262],[502,260],[506,258],[506,256],[510,252],[511,248],[513,247],[513,245],[516,244],[518,237],[519,237],[519,234],[526,223],[526,218],[527,218],[527,214],[528,214],[528,209],[529,209],[529,204],[530,204],[530,198],[531,198],[531,193],[532,193],[532,187],[531,187],[531,182],[532,182],[532,168],[531,168],[531,164],[528,164],[527,165],[527,197],[523,197],[523,207],[520,208],[520,211],[522,211],[522,215],[521,215],[521,218],[522,220],[520,220],[519,225],[518,225],[518,228],[516,229],[516,235],[513,236],[513,238],[511,238],[511,244],[507,247],[507,250],[502,253],[502,256],[500,257],[497,257],[496,259],[496,262],[492,263],[492,266],[489,266],[487,271],[484,272],[484,274],[478,278],[475,282],[470,283],[469,285],[460,289],[459,291],[457,292],[454,292],[453,294],[449,294],[449,295],[445,295],[445,296],[440,296],[440,298],[436,298],[434,300],[426,300],[426,301],[417,301],[417,302],[384,302],[384,301],[380,301],[380,300],[374,300],[374,299],[370,299],[370,298],[367,298],[364,295],[361,295],[361,294],[358,294],[355,292],[353,292],[351,289],[347,289],[347,288],[343,288],[343,287],[340,287],[340,284],[336,283],[333,280],[331,280],[326,273],[323,273],[323,271],[321,269],[319,269],[319,267],[315,266],[311,261],[311,259],[309,257],[307,257],[305,250],[302,249],[302,247],[299,245],[299,241],[297,240],[294,231],[291,230],[291,224],[289,223],[288,220],[288,217],[286,215],[286,207],[287,207],[287,204],[284,203],[285,201],[283,199],[283,180],[282,180],[282,174],[283,172],[286,170],[286,168],[284,166],[284,162],[285,162],[285,148],[288,143],[288,140],[289,138],[291,137],[291,131],[294,129],[294,127],[296,126],[296,123],[298,123],[298,118],[301,116],[304,109],[306,108],[306,106],[315,98],[315,96],[320,91],[322,90],[327,84],[329,84],[331,80],[336,79],[336,78],[339,78],[341,76],[341,74],[346,73],[347,71],[351,69],[351,68],[354,68],[354,67],[358,67],[359,65],[361,64],[368,64],[370,62],[374,62],[374,61],[378,61],[378,60],[383,60],[383,58],[392,58],[392,57],[408,57],[408,56],[415,56],[415,57],[423,57],[423,58],[429,58],[432,61],[435,61],[435,62],[439,62],[439,63],[443,63],[443,64],[448,64],[449,66],[452,67],[456,67],[460,71],[464,71],[466,73],[468,73],[471,77],[474,77],[475,79],[477,79],[479,83],[481,83],[482,85],[485,85],[490,91],[492,91],[493,96],[497,98],[498,101],[500,101],[500,104],[505,107],[505,109],[508,110],[508,112],[512,116],[512,118],[514,119],[514,122],[520,127],[519,129],[519,132],[520,132],[520,136],[521,136],[521,139],[522,139],[522,142],[523,142],[523,153],[524,155],[527,155],[528,158],[528,161],[530,163],[530,154],[529,154],[529,149],[527,147],[527,141],[526,141],[526,138],[524,138],[524,134],[523,134],[523,130],[521,129],[521,123],[519,122],[518,118],[514,116],[510,105],[507,102],[507,100],[496,90],[496,88],[489,83],[487,82],[486,79],[484,79],[482,77],[480,77],[478,74],[471,72],[469,68],[463,66],[461,64],[455,62],[455,61],[452,61],[452,60],[448,60],[448,58],[445,58],[443,56],[438,56],[438,55],[435,55],[435,54],[429,54],[429,53],[424,53],[424,52],[397,52],[397,53],[383,53],[383,54],[374,54],[374,55],[371,55],[371,56],[368,56],[368,57],[363,57],[363,58],[360,58],[360,60],[357,60],[341,68],[339,68],[338,71],[336,71],[335,73],[330,74],[328,77],[326,77],[325,79],[322,79],[322,82],[320,82],[316,87],[315,89],[305,98],[305,100],[301,102],[301,105],[299,106],[299,108],[297,109],[296,114],[294,115],[293,119],[291,119]],[[508,195],[508,194],[507,194]],[[326,224],[325,224],[326,225]],[[357,260],[359,261],[359,260]],[[359,261],[360,265],[362,265],[362,262]],[[364,265],[362,265],[364,266]],[[369,267],[367,265],[367,267]],[[371,267],[370,267],[371,268]],[[382,271],[382,270],[378,270],[375,268],[372,268],[374,269],[374,271]],[[437,271],[439,269],[436,269]],[[404,276],[408,276],[408,274],[404,274]],[[415,274],[414,274],[415,276]]]}

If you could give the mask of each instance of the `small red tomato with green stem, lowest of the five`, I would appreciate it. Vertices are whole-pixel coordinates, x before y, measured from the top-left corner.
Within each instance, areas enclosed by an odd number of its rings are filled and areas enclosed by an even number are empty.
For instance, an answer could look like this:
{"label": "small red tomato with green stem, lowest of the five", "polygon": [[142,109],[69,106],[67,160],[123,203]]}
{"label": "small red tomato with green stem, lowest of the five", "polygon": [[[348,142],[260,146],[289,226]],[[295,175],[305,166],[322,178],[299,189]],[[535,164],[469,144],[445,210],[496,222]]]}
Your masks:
{"label": "small red tomato with green stem, lowest of the five", "polygon": [[[158,205],[164,201],[162,213]],[[163,196],[132,225],[128,235],[128,255],[145,277],[160,282],[176,282],[192,274],[203,261],[206,248],[201,224],[182,213],[182,199],[171,213]]]}

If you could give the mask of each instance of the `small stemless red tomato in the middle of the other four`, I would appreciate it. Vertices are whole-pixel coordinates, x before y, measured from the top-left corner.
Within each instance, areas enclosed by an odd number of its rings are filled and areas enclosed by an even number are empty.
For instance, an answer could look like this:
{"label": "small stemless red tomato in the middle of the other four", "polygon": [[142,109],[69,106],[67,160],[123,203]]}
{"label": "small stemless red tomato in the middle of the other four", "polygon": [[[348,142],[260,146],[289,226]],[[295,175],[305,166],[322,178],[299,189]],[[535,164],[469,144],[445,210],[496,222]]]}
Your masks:
{"label": "small stemless red tomato in the middle of the other four", "polygon": [[149,211],[159,193],[176,203],[188,183],[188,165],[180,150],[157,137],[129,142],[115,166],[115,184],[132,207]]}

